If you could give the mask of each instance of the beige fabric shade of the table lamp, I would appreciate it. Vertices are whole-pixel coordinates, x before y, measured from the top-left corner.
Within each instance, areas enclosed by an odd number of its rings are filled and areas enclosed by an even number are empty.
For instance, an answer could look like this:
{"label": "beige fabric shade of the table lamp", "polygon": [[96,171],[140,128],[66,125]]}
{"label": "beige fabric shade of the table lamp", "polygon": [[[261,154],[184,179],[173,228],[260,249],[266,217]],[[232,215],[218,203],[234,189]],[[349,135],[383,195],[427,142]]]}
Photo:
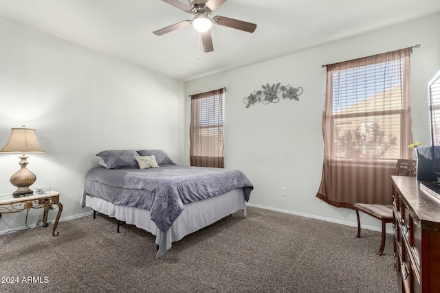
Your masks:
{"label": "beige fabric shade of the table lamp", "polygon": [[25,128],[12,128],[8,142],[0,150],[0,152],[45,152],[39,141],[36,139],[34,129]]}

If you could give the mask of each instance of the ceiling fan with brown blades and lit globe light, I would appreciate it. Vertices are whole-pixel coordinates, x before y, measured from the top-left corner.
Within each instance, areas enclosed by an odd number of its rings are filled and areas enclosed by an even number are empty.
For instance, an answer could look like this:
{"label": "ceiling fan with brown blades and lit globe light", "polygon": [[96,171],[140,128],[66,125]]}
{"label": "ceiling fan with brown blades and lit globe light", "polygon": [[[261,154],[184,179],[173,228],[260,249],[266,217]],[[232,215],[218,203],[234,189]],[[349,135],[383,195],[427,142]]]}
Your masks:
{"label": "ceiling fan with brown blades and lit globe light", "polygon": [[203,51],[206,53],[213,51],[214,46],[212,45],[212,38],[210,33],[210,28],[212,27],[212,23],[217,25],[223,25],[225,27],[232,27],[236,30],[242,30],[244,32],[254,32],[256,29],[256,24],[248,23],[246,21],[239,21],[237,19],[230,19],[225,16],[214,16],[210,18],[210,14],[217,10],[223,3],[227,0],[189,0],[189,6],[181,3],[178,0],[162,0],[170,5],[173,5],[175,8],[179,8],[184,12],[189,14],[193,14],[194,17],[192,20],[181,21],[179,23],[175,23],[168,27],[164,27],[160,30],[153,32],[156,36],[162,36],[162,34],[166,34],[168,32],[173,32],[181,27],[186,27],[188,25],[192,25],[197,32],[201,34],[201,40],[203,42]]}

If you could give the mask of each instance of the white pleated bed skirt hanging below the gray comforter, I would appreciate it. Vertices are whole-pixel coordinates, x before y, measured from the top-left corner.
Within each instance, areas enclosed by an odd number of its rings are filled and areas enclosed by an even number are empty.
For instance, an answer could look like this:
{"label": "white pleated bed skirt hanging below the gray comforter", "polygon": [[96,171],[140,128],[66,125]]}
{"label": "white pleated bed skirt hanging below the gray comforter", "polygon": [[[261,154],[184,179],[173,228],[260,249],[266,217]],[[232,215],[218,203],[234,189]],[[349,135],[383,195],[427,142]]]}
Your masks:
{"label": "white pleated bed skirt hanging below the gray comforter", "polygon": [[162,232],[150,219],[150,212],[135,207],[124,207],[112,204],[94,196],[85,196],[85,206],[109,215],[127,224],[136,225],[156,236],[155,243],[159,246],[156,258],[162,257],[171,248],[172,242],[179,241],[186,235],[203,227],[209,226],[225,216],[243,210],[246,216],[246,204],[242,188],[233,189],[206,200],[185,204],[185,209],[168,231]]}

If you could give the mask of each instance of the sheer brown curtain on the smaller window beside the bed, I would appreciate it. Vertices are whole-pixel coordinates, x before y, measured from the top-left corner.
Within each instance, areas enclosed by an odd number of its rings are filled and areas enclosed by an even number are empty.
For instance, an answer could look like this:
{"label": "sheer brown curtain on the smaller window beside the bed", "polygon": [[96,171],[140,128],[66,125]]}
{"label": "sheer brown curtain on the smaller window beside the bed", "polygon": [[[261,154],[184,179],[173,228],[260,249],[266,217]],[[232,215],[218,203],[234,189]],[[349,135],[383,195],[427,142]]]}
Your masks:
{"label": "sheer brown curtain on the smaller window beside the bed", "polygon": [[223,89],[191,96],[190,164],[223,168]]}

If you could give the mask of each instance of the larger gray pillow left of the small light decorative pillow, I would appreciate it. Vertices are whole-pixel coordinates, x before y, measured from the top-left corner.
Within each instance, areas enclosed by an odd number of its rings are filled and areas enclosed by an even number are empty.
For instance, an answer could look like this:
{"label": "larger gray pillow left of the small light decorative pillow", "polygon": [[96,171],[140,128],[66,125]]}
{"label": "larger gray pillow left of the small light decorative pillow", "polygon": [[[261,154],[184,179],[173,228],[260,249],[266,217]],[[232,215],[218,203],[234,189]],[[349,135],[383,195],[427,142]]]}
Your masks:
{"label": "larger gray pillow left of the small light decorative pillow", "polygon": [[103,150],[96,154],[100,156],[106,165],[106,169],[138,168],[134,150]]}

